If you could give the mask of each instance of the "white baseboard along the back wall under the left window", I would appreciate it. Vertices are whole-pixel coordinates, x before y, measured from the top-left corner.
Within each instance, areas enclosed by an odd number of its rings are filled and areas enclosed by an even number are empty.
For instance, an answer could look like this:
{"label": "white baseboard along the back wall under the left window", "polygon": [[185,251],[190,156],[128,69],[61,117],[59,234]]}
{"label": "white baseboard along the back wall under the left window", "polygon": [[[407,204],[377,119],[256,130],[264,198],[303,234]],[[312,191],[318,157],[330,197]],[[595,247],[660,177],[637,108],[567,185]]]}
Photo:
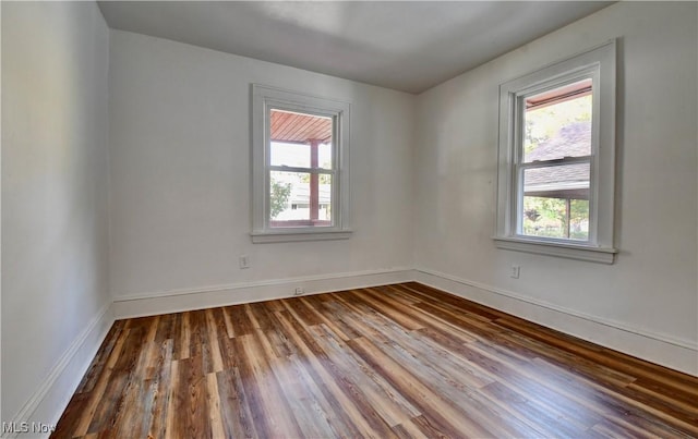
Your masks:
{"label": "white baseboard along the back wall under the left window", "polygon": [[411,269],[397,268],[125,295],[115,297],[115,316],[122,319],[269,301],[290,297],[296,288],[302,288],[304,294],[316,294],[376,286],[407,282],[413,276]]}

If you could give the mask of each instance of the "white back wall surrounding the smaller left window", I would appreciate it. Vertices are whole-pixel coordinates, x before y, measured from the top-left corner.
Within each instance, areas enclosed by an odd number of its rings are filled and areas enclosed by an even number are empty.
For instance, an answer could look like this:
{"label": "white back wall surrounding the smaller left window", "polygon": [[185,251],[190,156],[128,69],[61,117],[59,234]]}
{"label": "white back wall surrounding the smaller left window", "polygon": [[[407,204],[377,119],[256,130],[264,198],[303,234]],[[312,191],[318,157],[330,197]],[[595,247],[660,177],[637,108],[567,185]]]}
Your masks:
{"label": "white back wall surrounding the smaller left window", "polygon": [[[110,41],[116,301],[411,266],[413,96],[121,31]],[[251,244],[251,83],[351,102],[350,240]]]}

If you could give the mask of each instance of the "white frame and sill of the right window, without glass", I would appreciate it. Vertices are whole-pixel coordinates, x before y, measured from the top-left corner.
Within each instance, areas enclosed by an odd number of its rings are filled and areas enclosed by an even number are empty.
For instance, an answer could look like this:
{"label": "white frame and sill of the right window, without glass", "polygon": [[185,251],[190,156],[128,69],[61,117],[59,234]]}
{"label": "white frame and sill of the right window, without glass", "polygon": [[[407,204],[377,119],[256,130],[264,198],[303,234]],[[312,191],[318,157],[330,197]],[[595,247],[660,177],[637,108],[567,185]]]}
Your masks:
{"label": "white frame and sill of the right window, without glass", "polygon": [[[615,195],[615,40],[551,64],[500,86],[497,169],[498,248],[613,264]],[[589,187],[589,240],[524,235],[518,206],[522,200],[525,99],[545,90],[592,78],[592,133]]]}

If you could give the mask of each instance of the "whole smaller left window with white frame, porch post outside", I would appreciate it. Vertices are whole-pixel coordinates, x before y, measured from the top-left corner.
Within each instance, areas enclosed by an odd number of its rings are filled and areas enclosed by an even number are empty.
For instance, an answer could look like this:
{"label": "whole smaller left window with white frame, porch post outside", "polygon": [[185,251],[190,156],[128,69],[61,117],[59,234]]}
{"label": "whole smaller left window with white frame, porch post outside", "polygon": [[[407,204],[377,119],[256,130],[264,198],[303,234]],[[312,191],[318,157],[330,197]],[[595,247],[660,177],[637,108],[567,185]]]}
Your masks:
{"label": "whole smaller left window with white frame, porch post outside", "polygon": [[252,241],[349,237],[349,103],[252,86]]}

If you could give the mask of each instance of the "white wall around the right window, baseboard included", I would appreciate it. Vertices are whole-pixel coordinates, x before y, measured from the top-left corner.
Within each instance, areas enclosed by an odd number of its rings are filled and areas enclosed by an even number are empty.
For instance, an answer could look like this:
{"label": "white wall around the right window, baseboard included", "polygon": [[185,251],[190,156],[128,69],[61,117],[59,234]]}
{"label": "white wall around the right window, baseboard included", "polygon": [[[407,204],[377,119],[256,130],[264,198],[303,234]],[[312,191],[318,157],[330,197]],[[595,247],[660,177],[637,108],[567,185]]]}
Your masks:
{"label": "white wall around the right window, baseboard included", "polygon": [[[617,263],[495,248],[498,84],[611,38],[619,38]],[[695,2],[621,2],[421,95],[417,267],[465,295],[698,374],[697,41]],[[508,277],[513,264],[520,279]],[[645,339],[625,340],[631,333]]]}

